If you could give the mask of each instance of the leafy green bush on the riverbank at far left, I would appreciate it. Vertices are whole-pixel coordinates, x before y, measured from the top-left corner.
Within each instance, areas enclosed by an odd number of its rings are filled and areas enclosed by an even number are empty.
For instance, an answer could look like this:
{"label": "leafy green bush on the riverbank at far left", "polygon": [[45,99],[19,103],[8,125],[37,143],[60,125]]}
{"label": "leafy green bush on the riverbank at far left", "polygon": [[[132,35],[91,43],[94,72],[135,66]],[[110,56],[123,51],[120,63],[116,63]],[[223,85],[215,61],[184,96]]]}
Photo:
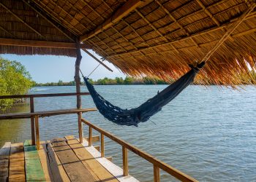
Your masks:
{"label": "leafy green bush on the riverbank at far left", "polygon": [[[0,95],[23,95],[32,87],[31,76],[26,68],[15,60],[0,57]],[[10,108],[20,99],[1,99],[0,111]]]}

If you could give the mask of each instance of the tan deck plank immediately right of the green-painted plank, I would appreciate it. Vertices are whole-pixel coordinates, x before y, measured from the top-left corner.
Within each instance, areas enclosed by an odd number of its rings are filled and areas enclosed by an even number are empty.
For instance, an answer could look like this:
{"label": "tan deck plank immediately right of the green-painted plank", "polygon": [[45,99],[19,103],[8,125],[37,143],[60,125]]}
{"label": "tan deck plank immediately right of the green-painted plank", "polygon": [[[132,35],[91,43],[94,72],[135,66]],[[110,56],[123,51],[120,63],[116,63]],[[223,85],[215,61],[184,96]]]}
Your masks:
{"label": "tan deck plank immediately right of the green-painted plank", "polygon": [[40,149],[37,152],[42,165],[42,170],[44,171],[44,174],[45,174],[45,180],[54,181],[53,173],[50,170],[50,164],[49,164],[50,159],[48,158],[45,142],[42,142],[42,141],[40,142]]}

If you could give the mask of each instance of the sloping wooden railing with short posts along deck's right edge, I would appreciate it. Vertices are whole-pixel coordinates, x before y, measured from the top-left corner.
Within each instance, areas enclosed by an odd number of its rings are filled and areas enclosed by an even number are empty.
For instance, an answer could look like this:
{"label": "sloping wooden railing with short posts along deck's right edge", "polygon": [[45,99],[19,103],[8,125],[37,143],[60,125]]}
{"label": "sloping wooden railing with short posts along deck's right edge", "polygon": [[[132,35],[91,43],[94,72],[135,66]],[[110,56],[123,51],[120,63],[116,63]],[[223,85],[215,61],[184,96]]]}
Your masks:
{"label": "sloping wooden railing with short posts along deck's right edge", "polygon": [[130,143],[127,143],[126,141],[121,140],[120,138],[116,137],[115,135],[111,134],[110,132],[107,132],[105,130],[102,130],[102,128],[97,127],[94,124],[91,124],[91,122],[87,121],[86,119],[82,118],[82,122],[84,124],[87,124],[89,126],[89,146],[92,145],[92,129],[97,130],[97,132],[101,135],[101,157],[105,157],[105,144],[104,144],[104,136],[110,138],[112,141],[115,141],[116,143],[120,144],[122,147],[122,157],[123,157],[123,173],[124,176],[127,176],[128,173],[128,150],[132,151],[133,153],[137,154],[139,157],[142,157],[143,159],[146,159],[148,162],[151,162],[151,164],[154,167],[154,182],[160,181],[160,170],[164,170],[166,173],[169,173],[170,175],[173,175],[173,177],[177,178],[180,181],[197,181],[195,178],[190,177],[189,175],[186,175],[185,173],[182,173],[181,171],[177,170],[176,168],[167,165],[165,162],[160,161],[159,159],[151,156],[150,154],[147,154],[145,151],[142,151],[138,149],[135,146],[132,146]]}

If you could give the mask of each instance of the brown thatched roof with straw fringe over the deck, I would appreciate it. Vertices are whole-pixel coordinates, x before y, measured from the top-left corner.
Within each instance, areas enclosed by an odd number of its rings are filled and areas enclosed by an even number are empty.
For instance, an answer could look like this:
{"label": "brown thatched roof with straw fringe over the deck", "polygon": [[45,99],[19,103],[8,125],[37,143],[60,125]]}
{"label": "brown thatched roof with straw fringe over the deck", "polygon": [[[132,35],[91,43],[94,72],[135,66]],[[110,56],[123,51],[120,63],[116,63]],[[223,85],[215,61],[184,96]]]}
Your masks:
{"label": "brown thatched roof with straw fringe over the deck", "polygon": [[[80,37],[85,47],[126,74],[177,79],[254,4],[255,0],[1,0],[0,38],[73,44]],[[75,49],[67,47],[0,44],[0,53],[75,56]],[[255,47],[254,9],[198,78],[204,83],[246,82],[250,68],[256,68]]]}

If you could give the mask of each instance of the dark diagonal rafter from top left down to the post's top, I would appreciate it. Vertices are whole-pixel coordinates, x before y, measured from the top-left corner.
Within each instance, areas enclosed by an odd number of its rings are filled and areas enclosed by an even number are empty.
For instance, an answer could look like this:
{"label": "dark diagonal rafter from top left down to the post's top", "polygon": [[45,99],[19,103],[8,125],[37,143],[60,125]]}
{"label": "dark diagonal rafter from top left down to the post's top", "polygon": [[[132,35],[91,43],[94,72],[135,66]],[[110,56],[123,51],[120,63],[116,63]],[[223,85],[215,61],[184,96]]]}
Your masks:
{"label": "dark diagonal rafter from top left down to the post's top", "polygon": [[[42,18],[44,18],[48,23],[53,25],[58,31],[64,34],[69,40],[75,42],[75,35],[72,38],[71,36],[67,35],[67,30],[64,28],[60,23],[56,22],[53,20],[47,13],[42,12],[41,9],[37,7],[37,4],[35,4],[33,1],[28,1],[28,0],[22,0],[26,5],[28,5],[31,9],[33,9],[35,12],[37,12]],[[70,32],[71,33],[71,32]]]}

